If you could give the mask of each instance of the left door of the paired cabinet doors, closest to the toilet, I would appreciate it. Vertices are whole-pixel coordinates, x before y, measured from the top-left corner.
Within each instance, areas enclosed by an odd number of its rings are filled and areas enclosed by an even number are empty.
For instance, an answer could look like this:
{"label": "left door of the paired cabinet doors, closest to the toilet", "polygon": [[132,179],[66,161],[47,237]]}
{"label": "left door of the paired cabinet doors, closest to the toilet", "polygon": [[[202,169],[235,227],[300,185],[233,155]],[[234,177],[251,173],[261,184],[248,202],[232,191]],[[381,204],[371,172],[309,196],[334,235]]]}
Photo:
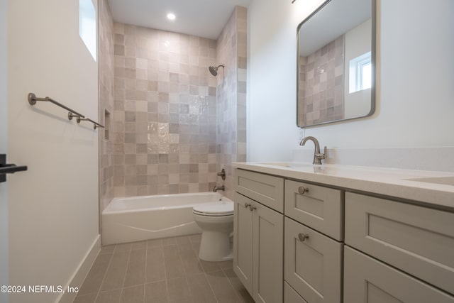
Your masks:
{"label": "left door of the paired cabinet doors, closest to the toilet", "polygon": [[250,294],[253,290],[253,200],[235,193],[233,270]]}

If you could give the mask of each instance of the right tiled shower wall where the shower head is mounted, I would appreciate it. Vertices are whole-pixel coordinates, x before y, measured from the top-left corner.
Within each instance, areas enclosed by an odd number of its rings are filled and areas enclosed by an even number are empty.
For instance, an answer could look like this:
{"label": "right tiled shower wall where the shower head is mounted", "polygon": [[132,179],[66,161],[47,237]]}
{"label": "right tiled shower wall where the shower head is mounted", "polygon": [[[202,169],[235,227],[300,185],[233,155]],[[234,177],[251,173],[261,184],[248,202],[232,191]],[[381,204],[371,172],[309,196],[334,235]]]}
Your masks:
{"label": "right tiled shower wall where the shower head is mounted", "polygon": [[[217,40],[218,165],[226,169],[226,196],[233,198],[231,162],[246,160],[247,9],[236,6]],[[221,184],[220,179],[218,183]]]}

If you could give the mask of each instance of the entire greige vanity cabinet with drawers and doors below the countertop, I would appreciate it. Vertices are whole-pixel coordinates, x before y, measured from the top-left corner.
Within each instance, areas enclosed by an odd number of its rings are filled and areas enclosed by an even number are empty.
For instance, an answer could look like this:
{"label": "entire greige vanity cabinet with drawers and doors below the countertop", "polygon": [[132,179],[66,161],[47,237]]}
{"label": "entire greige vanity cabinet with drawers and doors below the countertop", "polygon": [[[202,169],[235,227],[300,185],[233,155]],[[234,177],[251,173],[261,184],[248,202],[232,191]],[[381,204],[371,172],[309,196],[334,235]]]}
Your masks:
{"label": "entire greige vanity cabinet with drawers and doors below the countertop", "polygon": [[236,169],[233,266],[255,302],[454,303],[452,209],[293,178]]}

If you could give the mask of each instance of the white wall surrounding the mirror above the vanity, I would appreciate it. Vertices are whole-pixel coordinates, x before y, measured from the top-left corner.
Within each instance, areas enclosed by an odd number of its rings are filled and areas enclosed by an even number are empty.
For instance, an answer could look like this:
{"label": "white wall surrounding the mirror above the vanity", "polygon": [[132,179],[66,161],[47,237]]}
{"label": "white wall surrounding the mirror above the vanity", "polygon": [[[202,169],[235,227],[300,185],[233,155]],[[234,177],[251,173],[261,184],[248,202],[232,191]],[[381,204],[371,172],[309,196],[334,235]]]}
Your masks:
{"label": "white wall surrounding the mirror above the vanity", "polygon": [[[248,9],[248,160],[290,160],[296,28],[322,1],[253,0]],[[454,1],[377,0],[377,110],[306,128],[328,148],[454,145]]]}

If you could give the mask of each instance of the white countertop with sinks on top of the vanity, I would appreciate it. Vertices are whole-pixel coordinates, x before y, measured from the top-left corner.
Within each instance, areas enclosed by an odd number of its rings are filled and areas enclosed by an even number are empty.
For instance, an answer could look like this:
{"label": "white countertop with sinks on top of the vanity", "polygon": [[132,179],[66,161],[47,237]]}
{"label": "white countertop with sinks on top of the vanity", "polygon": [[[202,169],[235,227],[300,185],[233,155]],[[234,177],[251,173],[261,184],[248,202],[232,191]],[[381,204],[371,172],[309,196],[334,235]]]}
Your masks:
{"label": "white countertop with sinks on top of the vanity", "polygon": [[454,211],[454,173],[304,162],[233,162],[233,167]]}

